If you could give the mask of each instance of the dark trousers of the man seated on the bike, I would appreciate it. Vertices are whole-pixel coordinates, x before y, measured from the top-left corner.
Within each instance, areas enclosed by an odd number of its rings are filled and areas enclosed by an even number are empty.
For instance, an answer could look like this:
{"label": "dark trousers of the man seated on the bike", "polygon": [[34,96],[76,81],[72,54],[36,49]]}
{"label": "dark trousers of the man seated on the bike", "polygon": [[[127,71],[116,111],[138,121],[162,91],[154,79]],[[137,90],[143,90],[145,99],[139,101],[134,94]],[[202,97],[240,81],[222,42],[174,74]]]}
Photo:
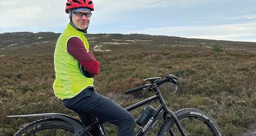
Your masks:
{"label": "dark trousers of the man seated on the bike", "polygon": [[[92,117],[96,117],[118,126],[117,136],[134,136],[134,116],[92,87],[84,89],[73,98],[64,99],[63,102],[68,109],[78,113],[85,126],[92,123]],[[91,133],[93,136],[100,136],[98,128]]]}

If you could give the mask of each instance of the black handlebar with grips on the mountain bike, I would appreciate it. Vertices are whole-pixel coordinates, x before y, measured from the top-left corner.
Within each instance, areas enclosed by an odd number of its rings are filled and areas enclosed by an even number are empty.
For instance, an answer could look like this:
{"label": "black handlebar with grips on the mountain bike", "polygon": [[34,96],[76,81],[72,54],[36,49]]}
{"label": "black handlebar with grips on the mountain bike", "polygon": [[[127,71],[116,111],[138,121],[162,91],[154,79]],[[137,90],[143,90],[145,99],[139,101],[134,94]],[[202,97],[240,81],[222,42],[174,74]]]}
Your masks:
{"label": "black handlebar with grips on the mountain bike", "polygon": [[[150,78],[148,78],[148,79],[150,79]],[[152,78],[152,79],[154,79],[154,78]],[[177,81],[176,81],[176,80],[177,80]],[[156,84],[157,86],[160,86],[161,84],[163,84],[164,82],[167,82],[167,81],[170,81],[170,82],[176,84],[177,82],[180,82],[181,79],[175,77],[175,76],[172,75],[172,74],[166,74],[164,79],[162,79],[162,80],[157,80],[157,81],[155,82],[155,84]],[[154,84],[154,85],[155,85],[155,84]],[[136,88],[132,88],[132,89],[126,90],[126,91],[125,91],[125,94],[130,94],[130,93],[133,93],[133,92],[137,92],[137,91],[143,90],[144,88],[148,88],[148,87],[150,87],[150,86],[152,86],[152,84],[146,84],[146,85],[143,85],[143,86],[139,86],[139,87],[136,87]]]}

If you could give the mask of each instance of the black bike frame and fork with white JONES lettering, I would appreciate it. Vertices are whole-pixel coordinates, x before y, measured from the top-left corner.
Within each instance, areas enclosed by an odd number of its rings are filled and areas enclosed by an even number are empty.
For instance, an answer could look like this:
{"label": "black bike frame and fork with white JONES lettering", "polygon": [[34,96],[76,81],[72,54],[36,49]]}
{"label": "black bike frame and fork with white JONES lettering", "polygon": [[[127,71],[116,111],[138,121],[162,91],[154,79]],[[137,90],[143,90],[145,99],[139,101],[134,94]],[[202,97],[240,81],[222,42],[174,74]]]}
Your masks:
{"label": "black bike frame and fork with white JONES lettering", "polygon": [[[162,112],[164,113],[168,113],[172,116],[172,118],[174,118],[174,121],[180,131],[180,133],[182,134],[182,136],[186,136],[186,134],[184,133],[182,126],[180,125],[180,122],[178,120],[178,118],[176,117],[176,115],[174,114],[174,112],[172,112],[171,110],[168,110],[168,107],[166,106],[164,99],[162,97],[162,94],[160,93],[160,90],[158,89],[158,87],[153,88],[154,92],[156,93],[156,95],[151,96],[150,98],[147,98],[145,100],[142,100],[136,104],[133,104],[131,106],[128,106],[127,108],[125,108],[128,111],[134,110],[144,104],[147,104],[148,102],[151,102],[153,100],[158,99],[160,101],[160,106],[158,106],[158,108],[154,111],[154,113],[152,114],[152,116],[150,117],[150,120],[144,125],[140,127],[140,130],[138,131],[138,133],[136,134],[136,136],[146,136],[150,130],[152,130],[152,128],[154,127],[154,125],[156,124],[156,122],[158,121],[158,119],[161,117],[160,115],[162,115]],[[92,123],[90,126],[86,127],[82,133],[80,133],[79,136],[82,136],[82,134],[84,134],[86,131],[91,130],[92,128],[94,128],[96,125],[98,127],[100,127],[99,124],[104,123],[103,121],[95,121],[94,123]]]}

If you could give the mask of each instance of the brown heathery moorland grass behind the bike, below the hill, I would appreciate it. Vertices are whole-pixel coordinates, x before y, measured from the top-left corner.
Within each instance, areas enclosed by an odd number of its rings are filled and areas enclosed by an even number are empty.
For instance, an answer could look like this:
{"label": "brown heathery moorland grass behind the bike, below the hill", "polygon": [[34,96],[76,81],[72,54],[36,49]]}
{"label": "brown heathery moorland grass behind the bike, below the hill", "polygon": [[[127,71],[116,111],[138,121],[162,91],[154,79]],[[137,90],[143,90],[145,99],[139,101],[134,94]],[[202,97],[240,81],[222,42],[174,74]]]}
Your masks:
{"label": "brown heathery moorland grass behind the bike, below the hill", "polygon": [[[171,110],[199,108],[218,122],[225,136],[242,134],[255,121],[256,53],[142,44],[104,48],[112,52],[94,52],[101,63],[95,88],[124,107],[143,100],[140,93],[125,95],[124,90],[146,84],[145,78],[174,74],[182,77],[183,91]],[[35,120],[8,115],[56,112],[78,118],[54,96],[54,46],[14,51],[19,50],[0,52],[6,55],[0,57],[0,135],[14,134]],[[132,113],[137,116],[142,108]],[[106,130],[108,135],[116,134],[110,124]]]}

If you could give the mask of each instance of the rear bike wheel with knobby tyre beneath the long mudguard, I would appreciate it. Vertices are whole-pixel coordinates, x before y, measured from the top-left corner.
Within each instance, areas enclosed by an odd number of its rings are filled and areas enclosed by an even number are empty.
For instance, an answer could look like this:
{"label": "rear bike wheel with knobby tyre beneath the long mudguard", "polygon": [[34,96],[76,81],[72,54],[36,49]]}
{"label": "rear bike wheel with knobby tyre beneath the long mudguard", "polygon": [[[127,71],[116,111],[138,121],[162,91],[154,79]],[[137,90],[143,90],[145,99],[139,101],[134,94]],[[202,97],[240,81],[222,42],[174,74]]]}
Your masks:
{"label": "rear bike wheel with knobby tyre beneath the long mudguard", "polygon": [[72,136],[73,134],[74,128],[68,122],[58,118],[45,118],[24,126],[14,136]]}

